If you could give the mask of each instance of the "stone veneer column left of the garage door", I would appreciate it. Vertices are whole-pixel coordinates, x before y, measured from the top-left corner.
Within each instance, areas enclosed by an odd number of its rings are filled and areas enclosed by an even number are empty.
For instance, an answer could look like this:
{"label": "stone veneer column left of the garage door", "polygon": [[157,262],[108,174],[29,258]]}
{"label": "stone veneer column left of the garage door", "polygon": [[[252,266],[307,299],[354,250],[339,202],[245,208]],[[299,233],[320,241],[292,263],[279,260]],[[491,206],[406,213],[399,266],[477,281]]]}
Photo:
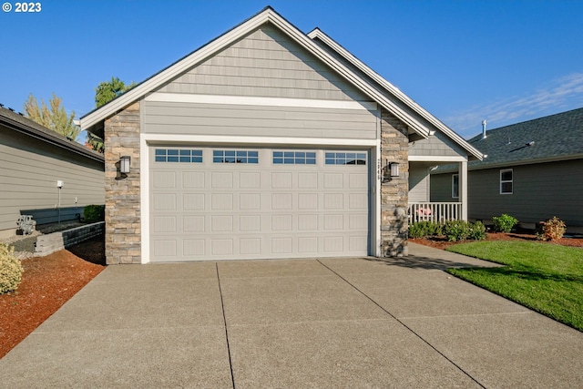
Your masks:
{"label": "stone veneer column left of the garage door", "polygon": [[[140,263],[139,103],[105,121],[106,261]],[[127,177],[119,158],[131,157]]]}

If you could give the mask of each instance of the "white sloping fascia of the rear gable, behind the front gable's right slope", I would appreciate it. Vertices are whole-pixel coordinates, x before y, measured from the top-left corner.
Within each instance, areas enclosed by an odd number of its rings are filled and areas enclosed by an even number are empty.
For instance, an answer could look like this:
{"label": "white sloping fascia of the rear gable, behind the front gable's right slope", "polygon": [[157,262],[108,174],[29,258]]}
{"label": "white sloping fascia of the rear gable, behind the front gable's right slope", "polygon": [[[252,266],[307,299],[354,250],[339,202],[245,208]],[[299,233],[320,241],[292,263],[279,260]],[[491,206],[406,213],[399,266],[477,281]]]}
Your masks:
{"label": "white sloping fascia of the rear gable, behind the front gable's right slope", "polygon": [[384,77],[381,77],[378,73],[376,73],[372,68],[367,67],[361,60],[353,56],[350,52],[345,50],[343,46],[338,45],[330,36],[324,34],[320,29],[316,28],[308,36],[312,39],[318,38],[322,40],[324,44],[330,46],[332,50],[334,50],[339,55],[343,56],[348,62],[353,64],[354,67],[359,68],[366,76],[371,77],[375,82],[379,85],[383,86],[389,93],[394,95],[395,97],[399,98],[403,101],[407,106],[414,109],[422,118],[430,122],[435,128],[439,128],[445,135],[455,141],[458,145],[465,148],[470,154],[472,154],[476,159],[484,159],[484,155],[478,151],[476,148],[471,146],[469,143],[465,141],[464,138],[460,137],[454,130],[445,126],[439,119],[435,118],[429,112],[427,112],[424,107],[421,107],[417,103],[414,102],[413,99],[406,96],[403,92],[399,90],[398,87],[394,87],[393,84],[388,82]]}

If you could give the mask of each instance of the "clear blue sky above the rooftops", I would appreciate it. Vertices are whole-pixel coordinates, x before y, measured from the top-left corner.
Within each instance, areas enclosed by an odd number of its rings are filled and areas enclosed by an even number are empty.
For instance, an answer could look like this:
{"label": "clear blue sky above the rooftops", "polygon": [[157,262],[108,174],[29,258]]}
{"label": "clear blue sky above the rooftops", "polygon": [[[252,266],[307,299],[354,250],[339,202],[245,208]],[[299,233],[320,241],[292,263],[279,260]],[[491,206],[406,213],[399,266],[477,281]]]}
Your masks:
{"label": "clear blue sky above the rooftops", "polygon": [[[1,1],[5,3],[4,0]],[[583,107],[583,1],[44,0],[0,12],[0,103],[52,93],[79,118],[95,87],[140,82],[266,5],[318,26],[464,138]]]}

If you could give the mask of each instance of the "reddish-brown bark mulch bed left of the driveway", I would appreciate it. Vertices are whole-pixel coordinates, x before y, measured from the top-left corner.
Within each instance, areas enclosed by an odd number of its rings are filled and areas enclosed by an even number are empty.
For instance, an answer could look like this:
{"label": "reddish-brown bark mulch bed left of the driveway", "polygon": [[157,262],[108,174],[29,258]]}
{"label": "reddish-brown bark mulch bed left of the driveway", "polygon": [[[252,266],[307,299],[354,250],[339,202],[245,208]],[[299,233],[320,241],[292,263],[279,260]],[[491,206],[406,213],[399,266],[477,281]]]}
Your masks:
{"label": "reddish-brown bark mulch bed left of the driveway", "polygon": [[0,294],[0,358],[105,269],[103,237],[22,261],[15,292]]}

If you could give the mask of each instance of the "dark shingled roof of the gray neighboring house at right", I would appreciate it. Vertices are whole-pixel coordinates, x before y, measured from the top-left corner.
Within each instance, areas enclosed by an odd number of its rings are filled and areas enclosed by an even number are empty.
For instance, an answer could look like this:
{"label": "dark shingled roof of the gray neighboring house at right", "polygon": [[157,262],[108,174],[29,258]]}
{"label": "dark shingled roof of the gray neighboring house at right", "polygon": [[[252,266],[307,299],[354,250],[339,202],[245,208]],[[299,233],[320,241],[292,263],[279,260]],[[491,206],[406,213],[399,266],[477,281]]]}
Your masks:
{"label": "dark shingled roof of the gray neighboring house at right", "polygon": [[[491,169],[583,159],[583,107],[486,131],[468,142],[482,150],[487,159],[468,163],[467,169]],[[454,167],[443,166],[435,173]]]}

